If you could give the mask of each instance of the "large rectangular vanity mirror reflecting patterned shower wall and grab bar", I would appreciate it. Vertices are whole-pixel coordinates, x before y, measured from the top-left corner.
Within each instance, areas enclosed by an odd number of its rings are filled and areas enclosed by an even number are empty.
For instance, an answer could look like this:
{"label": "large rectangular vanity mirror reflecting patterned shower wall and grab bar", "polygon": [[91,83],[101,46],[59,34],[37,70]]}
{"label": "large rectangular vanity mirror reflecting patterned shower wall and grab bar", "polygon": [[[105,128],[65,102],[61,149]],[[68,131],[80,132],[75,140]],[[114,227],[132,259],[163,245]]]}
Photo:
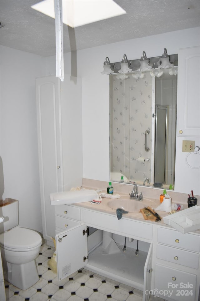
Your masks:
{"label": "large rectangular vanity mirror reflecting patterned shower wall and grab bar", "polygon": [[177,67],[143,74],[109,75],[110,180],[174,189]]}

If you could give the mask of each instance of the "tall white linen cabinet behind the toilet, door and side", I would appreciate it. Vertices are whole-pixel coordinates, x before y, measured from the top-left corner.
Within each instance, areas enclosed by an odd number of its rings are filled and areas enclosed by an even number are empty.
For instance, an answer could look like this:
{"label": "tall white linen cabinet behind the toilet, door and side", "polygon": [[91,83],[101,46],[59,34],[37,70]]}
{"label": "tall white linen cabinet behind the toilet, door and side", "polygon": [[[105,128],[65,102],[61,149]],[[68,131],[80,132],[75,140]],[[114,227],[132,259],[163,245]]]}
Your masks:
{"label": "tall white linen cabinet behind the toilet, door and side", "polygon": [[49,194],[81,186],[83,178],[81,80],[36,79],[37,133],[43,237],[55,237]]}

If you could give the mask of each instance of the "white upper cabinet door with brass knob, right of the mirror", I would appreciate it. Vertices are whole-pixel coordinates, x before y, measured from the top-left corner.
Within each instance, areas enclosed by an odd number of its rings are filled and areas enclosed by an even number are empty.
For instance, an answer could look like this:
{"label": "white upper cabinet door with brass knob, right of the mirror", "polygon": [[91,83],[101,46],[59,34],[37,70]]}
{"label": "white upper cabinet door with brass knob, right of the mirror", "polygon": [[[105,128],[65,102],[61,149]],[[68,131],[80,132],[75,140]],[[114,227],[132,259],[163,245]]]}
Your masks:
{"label": "white upper cabinet door with brass knob, right of the mirror", "polygon": [[178,136],[200,136],[200,47],[178,51]]}

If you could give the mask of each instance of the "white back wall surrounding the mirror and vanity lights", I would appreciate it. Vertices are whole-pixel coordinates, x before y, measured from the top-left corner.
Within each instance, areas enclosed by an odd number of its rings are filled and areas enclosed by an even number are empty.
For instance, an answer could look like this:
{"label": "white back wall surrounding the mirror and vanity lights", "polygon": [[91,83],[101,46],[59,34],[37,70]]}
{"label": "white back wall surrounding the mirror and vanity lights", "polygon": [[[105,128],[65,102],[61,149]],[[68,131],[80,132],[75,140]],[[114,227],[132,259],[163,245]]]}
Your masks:
{"label": "white back wall surrounding the mirror and vanity lights", "polygon": [[[109,181],[109,78],[102,75],[103,62],[108,56],[111,62],[138,59],[145,50],[148,57],[178,53],[179,48],[197,46],[199,28],[174,31],[140,39],[89,48],[77,52],[78,76],[82,77],[83,107],[83,177]],[[65,72],[70,72],[71,56],[64,56]],[[55,72],[55,58],[47,59],[47,73]],[[189,138],[188,138],[189,139]],[[192,139],[194,140],[194,139]],[[199,145],[199,138],[195,138]],[[177,153],[182,153],[182,143],[177,139]],[[184,172],[187,170],[187,173]],[[177,157],[175,191],[200,194],[199,170],[188,170],[183,157]]]}

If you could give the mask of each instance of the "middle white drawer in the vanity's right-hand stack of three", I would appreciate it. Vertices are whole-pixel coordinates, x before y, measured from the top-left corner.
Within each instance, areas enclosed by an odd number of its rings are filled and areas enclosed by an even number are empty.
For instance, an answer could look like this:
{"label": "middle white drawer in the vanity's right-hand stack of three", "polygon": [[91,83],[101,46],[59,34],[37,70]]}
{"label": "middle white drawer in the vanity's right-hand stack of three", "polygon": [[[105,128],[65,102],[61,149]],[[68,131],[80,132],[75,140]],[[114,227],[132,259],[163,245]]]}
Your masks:
{"label": "middle white drawer in the vanity's right-hand stack of three", "polygon": [[157,258],[198,269],[199,254],[168,246],[157,245]]}

